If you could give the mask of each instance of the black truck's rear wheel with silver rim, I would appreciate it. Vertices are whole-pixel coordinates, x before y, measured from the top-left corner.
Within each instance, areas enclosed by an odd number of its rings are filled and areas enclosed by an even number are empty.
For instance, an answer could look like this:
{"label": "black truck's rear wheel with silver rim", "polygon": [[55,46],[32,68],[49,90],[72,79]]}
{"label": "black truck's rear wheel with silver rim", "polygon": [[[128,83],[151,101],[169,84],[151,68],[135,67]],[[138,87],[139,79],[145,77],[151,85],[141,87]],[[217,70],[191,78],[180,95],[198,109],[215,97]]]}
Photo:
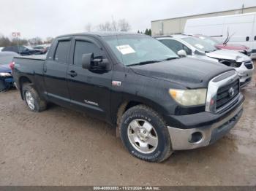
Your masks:
{"label": "black truck's rear wheel with silver rim", "polygon": [[33,112],[42,112],[47,108],[47,102],[40,98],[37,91],[31,84],[24,84],[22,86],[23,98],[27,106]]}

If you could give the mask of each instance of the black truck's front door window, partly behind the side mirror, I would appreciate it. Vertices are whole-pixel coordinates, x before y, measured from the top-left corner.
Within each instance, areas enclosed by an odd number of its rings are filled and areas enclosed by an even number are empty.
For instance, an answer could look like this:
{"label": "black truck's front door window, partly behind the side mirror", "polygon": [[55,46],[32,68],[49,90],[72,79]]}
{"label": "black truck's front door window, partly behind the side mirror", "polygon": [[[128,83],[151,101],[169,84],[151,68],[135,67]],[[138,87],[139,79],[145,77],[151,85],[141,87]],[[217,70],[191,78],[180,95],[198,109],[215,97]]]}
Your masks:
{"label": "black truck's front door window, partly behind the side mirror", "polygon": [[76,41],[74,53],[74,65],[82,66],[83,54],[94,53],[94,57],[104,56],[103,51],[92,42]]}

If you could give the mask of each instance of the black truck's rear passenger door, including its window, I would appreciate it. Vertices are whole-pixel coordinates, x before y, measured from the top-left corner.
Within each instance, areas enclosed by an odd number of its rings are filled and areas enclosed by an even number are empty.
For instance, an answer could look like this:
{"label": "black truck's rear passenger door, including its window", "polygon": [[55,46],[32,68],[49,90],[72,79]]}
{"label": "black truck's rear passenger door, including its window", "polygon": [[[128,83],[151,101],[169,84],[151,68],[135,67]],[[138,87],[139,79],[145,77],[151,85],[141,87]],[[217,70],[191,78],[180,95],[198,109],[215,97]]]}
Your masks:
{"label": "black truck's rear passenger door, including its window", "polygon": [[45,89],[50,101],[69,106],[70,98],[67,89],[67,69],[71,38],[62,38],[54,42],[51,52],[45,61]]}

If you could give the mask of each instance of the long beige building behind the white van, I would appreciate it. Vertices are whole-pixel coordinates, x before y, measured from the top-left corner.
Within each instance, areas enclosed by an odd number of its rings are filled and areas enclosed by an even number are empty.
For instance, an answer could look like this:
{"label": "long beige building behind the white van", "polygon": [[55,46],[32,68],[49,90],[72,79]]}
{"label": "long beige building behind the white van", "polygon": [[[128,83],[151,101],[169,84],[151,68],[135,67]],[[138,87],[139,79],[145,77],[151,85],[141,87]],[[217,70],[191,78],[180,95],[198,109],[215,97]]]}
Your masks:
{"label": "long beige building behind the white van", "polygon": [[215,17],[224,15],[235,15],[241,13],[256,12],[256,7],[246,7],[241,9],[227,10],[223,12],[211,12],[201,15],[191,15],[184,17],[174,17],[163,20],[153,20],[151,21],[151,31],[152,35],[166,35],[166,34],[182,34],[184,31],[184,26],[188,19],[200,18],[200,17]]}

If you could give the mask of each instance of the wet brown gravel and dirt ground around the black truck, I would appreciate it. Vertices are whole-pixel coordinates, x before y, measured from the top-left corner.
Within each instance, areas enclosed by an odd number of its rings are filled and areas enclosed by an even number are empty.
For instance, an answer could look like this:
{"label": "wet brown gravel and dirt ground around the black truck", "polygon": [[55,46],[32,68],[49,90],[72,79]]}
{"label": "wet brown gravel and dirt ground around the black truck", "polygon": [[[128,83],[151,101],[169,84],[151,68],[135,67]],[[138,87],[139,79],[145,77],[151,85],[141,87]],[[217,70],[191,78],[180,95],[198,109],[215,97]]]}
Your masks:
{"label": "wet brown gravel and dirt ground around the black truck", "polygon": [[17,90],[0,93],[0,184],[255,185],[255,83],[227,136],[158,164],[129,155],[105,122],[55,105],[33,113]]}

